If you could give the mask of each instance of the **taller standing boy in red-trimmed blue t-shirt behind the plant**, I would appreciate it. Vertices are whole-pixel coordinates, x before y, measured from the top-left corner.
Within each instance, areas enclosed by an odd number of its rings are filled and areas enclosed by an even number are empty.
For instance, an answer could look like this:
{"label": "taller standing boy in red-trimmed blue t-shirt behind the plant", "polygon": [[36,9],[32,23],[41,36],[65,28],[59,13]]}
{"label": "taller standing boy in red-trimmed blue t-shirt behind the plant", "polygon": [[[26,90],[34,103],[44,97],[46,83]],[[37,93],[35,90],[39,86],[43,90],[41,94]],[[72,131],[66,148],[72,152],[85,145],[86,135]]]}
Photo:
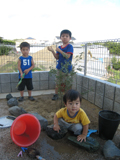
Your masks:
{"label": "taller standing boy in red-trimmed blue t-shirt behind the plant", "polygon": [[[58,60],[58,64],[56,68],[59,70],[62,70],[63,74],[65,72],[64,69],[62,69],[62,65],[64,65],[66,62],[69,62],[68,66],[68,73],[72,70],[72,58],[73,58],[73,46],[69,44],[69,41],[71,40],[71,32],[69,30],[62,30],[60,33],[60,39],[62,40],[62,45],[56,48],[56,53],[53,50],[51,46],[48,47],[48,50],[53,53],[53,56]],[[59,74],[59,72],[58,72]],[[55,87],[55,94],[53,95],[52,100],[58,99],[58,88]]]}

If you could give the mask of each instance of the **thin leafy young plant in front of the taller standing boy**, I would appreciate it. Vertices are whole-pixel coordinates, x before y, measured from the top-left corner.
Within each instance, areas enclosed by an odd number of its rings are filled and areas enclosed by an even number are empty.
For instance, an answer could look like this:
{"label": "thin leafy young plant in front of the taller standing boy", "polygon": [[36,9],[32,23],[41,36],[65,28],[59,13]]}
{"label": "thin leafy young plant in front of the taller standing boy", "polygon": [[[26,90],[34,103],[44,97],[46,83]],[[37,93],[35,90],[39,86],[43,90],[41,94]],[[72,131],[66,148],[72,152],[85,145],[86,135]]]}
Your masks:
{"label": "thin leafy young plant in front of the taller standing boy", "polygon": [[68,67],[70,66],[69,61],[65,61],[65,63],[61,63],[61,69],[58,71],[53,66],[50,67],[50,75],[55,75],[55,83],[58,88],[58,96],[61,101],[60,108],[63,107],[62,97],[64,93],[72,88],[73,77],[76,75],[76,71],[81,71],[81,65],[79,60],[82,59],[82,53],[75,57],[75,62],[72,65],[72,70],[69,72]]}

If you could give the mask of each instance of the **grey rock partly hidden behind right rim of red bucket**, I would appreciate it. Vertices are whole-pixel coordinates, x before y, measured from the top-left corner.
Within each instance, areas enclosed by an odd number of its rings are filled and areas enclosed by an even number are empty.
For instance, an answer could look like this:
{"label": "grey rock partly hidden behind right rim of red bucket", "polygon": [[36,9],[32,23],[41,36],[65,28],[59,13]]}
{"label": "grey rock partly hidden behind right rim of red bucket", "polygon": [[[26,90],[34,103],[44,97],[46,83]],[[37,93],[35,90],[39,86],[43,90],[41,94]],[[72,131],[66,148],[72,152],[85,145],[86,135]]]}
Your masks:
{"label": "grey rock partly hidden behind right rim of red bucket", "polygon": [[48,125],[47,119],[45,119],[44,117],[42,117],[38,113],[30,113],[30,114],[34,115],[39,120],[40,125],[41,125],[41,130],[46,130],[47,125]]}

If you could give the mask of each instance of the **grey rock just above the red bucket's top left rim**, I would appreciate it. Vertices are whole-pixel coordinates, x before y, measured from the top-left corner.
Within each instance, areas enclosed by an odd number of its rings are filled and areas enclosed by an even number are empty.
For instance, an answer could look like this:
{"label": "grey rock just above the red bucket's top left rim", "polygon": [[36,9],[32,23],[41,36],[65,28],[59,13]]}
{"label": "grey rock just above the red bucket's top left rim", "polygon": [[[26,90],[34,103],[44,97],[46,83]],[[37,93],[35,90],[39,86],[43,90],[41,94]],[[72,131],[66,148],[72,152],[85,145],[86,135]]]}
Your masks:
{"label": "grey rock just above the red bucket's top left rim", "polygon": [[22,107],[18,107],[18,106],[10,107],[8,110],[10,114],[14,115],[15,117],[18,117],[21,114],[27,113]]}

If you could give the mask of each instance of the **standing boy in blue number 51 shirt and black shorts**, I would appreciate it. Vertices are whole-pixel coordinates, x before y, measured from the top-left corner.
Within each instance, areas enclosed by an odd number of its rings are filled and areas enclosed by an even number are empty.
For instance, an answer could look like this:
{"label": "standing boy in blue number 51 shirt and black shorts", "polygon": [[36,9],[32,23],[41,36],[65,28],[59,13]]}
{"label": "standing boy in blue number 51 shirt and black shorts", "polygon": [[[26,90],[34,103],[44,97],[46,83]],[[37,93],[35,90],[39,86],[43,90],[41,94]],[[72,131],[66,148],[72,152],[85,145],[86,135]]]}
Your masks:
{"label": "standing boy in blue number 51 shirt and black shorts", "polygon": [[19,70],[19,80],[23,76],[23,73],[25,73],[25,76],[22,80],[22,83],[18,86],[18,90],[20,91],[21,97],[18,99],[18,101],[24,100],[24,89],[25,86],[28,90],[28,99],[31,101],[34,101],[35,99],[31,96],[31,91],[33,89],[32,84],[32,69],[34,68],[34,61],[32,56],[29,56],[30,51],[30,44],[27,42],[22,42],[20,44],[20,50],[22,52],[22,56],[18,59],[18,70]]}

